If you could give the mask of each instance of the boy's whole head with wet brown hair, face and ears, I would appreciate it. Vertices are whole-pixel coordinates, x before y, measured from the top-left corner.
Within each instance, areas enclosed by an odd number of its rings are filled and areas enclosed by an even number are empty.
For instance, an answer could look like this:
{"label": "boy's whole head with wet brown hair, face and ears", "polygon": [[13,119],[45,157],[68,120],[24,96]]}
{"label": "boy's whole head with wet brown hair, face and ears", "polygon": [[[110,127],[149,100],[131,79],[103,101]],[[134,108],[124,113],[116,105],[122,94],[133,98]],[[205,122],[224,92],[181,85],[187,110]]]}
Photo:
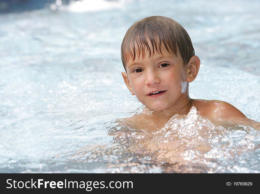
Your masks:
{"label": "boy's whole head with wet brown hair, face and ears", "polygon": [[153,16],[135,22],[123,39],[122,76],[132,95],[160,111],[189,98],[189,82],[200,61],[186,30],[173,19]]}

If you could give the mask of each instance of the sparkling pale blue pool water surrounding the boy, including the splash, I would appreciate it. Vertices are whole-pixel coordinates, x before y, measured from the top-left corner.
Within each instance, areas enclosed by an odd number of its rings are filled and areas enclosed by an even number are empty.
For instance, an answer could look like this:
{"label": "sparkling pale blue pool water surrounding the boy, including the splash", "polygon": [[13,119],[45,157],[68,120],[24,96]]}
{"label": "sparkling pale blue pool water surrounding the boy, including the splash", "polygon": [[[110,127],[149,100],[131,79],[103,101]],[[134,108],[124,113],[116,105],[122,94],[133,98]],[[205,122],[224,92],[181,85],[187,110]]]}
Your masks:
{"label": "sparkling pale blue pool water surrounding the boy, including the splash", "polygon": [[121,41],[138,19],[163,15],[187,30],[202,62],[190,97],[259,122],[260,2],[100,2],[0,14],[0,172],[259,173],[254,128],[216,126],[194,109],[157,132],[118,119],[143,108],[121,76]]}

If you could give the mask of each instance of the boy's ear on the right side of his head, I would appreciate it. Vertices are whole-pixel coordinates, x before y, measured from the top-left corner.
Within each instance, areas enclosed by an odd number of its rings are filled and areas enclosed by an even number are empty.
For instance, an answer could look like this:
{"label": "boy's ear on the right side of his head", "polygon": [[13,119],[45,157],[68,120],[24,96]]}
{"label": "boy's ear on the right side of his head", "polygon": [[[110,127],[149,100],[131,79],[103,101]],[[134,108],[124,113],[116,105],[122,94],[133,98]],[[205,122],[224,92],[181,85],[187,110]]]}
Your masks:
{"label": "boy's ear on the right side of his head", "polygon": [[199,73],[200,60],[198,56],[192,56],[187,64],[187,81],[193,81]]}

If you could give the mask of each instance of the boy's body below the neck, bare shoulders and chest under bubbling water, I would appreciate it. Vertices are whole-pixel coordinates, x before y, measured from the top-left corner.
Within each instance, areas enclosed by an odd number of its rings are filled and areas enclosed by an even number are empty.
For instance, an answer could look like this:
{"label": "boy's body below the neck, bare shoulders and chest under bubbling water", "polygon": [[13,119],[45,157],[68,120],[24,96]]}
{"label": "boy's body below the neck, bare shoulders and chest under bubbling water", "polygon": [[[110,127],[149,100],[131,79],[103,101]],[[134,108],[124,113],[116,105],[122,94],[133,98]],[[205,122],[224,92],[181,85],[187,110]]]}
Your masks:
{"label": "boy's body below the neck, bare shoulders and chest under bubbling water", "polygon": [[225,172],[223,162],[241,165],[260,148],[259,123],[227,102],[190,99],[175,113],[165,117],[144,107],[142,113],[117,120],[108,134],[125,152],[167,173]]}

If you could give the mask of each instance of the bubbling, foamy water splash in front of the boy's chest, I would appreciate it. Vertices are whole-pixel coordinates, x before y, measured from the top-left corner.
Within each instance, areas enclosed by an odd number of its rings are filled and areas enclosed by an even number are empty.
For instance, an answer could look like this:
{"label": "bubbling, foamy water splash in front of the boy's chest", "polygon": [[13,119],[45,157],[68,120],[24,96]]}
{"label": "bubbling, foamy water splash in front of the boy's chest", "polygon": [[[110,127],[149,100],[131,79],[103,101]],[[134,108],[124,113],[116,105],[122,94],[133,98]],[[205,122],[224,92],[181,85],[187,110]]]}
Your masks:
{"label": "bubbling, foamy water splash in front of the boy's chest", "polygon": [[257,162],[247,161],[260,147],[259,133],[216,126],[197,115],[196,107],[187,115],[174,115],[157,131],[123,128],[113,134],[114,141],[135,156],[131,162],[156,164],[162,172],[259,172]]}

